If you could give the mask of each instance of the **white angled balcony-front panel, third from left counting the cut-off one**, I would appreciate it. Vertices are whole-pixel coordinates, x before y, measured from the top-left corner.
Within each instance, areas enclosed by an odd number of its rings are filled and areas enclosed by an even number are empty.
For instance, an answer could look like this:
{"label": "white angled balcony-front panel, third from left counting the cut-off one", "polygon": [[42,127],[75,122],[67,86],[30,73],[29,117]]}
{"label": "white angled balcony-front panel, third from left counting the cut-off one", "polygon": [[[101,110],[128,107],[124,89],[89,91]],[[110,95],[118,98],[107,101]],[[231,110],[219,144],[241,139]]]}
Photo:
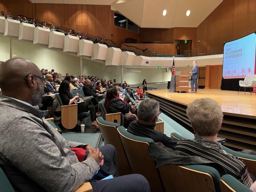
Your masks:
{"label": "white angled balcony-front panel, third from left counting the cut-off one", "polygon": [[35,26],[30,23],[20,23],[19,26],[19,40],[33,41]]}

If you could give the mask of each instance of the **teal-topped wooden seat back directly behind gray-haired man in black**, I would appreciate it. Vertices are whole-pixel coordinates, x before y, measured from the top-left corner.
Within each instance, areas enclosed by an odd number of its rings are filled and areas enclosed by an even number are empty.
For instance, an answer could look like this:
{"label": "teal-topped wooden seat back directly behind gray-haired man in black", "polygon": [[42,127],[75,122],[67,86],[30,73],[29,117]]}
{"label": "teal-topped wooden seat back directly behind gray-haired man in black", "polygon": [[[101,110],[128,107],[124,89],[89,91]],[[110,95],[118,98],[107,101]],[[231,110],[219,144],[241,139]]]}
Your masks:
{"label": "teal-topped wooden seat back directly behind gray-haired man in black", "polygon": [[147,155],[150,138],[135,136],[125,130],[123,126],[117,128],[124,146],[132,173],[143,175],[149,182],[151,191],[163,191],[158,170],[154,160]]}

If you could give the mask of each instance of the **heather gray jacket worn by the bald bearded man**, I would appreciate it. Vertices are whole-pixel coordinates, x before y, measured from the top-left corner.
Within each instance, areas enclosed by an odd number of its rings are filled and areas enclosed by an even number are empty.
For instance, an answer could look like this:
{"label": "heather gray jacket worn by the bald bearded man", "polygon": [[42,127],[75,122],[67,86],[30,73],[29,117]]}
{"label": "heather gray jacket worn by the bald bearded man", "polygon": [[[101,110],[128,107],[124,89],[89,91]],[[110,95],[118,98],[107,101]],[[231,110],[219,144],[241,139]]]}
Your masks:
{"label": "heather gray jacket worn by the bald bearded man", "polygon": [[98,172],[98,165],[92,158],[80,163],[70,148],[86,144],[66,141],[45,113],[0,95],[0,166],[15,167],[46,191],[75,191]]}

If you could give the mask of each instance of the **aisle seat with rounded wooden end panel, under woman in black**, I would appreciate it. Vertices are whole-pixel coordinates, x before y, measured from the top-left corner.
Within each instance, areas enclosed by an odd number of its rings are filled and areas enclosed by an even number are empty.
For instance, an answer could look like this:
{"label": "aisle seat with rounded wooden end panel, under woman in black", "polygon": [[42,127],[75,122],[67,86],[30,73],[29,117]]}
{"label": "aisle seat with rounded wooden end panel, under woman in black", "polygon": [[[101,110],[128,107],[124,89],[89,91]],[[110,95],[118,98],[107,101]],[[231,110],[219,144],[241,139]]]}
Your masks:
{"label": "aisle seat with rounded wooden end panel, under woman in black", "polygon": [[77,120],[83,121],[90,115],[90,111],[77,114],[77,104],[63,105],[59,93],[56,93],[55,96],[61,108],[61,124],[66,129],[73,129]]}

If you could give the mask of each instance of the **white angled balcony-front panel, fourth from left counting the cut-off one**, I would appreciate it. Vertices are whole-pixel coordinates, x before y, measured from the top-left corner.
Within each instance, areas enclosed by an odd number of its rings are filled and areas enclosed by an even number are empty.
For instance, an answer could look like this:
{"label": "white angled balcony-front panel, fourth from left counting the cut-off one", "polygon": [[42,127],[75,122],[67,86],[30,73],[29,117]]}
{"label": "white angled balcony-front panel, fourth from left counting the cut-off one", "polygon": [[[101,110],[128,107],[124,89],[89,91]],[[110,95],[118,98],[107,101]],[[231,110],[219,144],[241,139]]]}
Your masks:
{"label": "white angled balcony-front panel, fourth from left counting the cut-off one", "polygon": [[35,27],[33,44],[48,45],[49,44],[49,28]]}

